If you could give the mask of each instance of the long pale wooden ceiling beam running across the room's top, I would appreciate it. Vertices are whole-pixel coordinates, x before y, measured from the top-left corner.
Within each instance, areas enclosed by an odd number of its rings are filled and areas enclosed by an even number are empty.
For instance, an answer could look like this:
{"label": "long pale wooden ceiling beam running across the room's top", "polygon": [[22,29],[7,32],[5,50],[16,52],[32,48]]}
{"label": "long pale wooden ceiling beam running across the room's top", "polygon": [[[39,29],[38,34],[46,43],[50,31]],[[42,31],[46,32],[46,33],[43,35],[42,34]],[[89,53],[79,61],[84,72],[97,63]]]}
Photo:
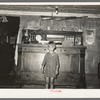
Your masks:
{"label": "long pale wooden ceiling beam running across the room's top", "polygon": [[56,17],[82,17],[87,16],[88,18],[100,18],[100,14],[87,14],[87,13],[58,13],[55,12],[33,12],[33,11],[16,11],[16,10],[0,10],[0,15],[6,16],[56,16]]}

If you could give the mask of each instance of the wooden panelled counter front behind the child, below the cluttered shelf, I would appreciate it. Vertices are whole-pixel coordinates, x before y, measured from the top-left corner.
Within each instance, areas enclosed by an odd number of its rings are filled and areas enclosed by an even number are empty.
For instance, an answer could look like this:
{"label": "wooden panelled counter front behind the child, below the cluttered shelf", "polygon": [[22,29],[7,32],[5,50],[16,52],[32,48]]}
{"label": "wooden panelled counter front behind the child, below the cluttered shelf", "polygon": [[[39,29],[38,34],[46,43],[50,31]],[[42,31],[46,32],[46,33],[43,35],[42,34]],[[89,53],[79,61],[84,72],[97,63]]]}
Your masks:
{"label": "wooden panelled counter front behind the child, below the cluttered shelf", "polygon": [[[85,49],[84,46],[57,46],[60,69],[55,85],[86,88],[85,82]],[[18,44],[18,80],[24,84],[45,84],[41,74],[41,63],[47,46],[42,44]],[[20,73],[20,74],[19,74]]]}

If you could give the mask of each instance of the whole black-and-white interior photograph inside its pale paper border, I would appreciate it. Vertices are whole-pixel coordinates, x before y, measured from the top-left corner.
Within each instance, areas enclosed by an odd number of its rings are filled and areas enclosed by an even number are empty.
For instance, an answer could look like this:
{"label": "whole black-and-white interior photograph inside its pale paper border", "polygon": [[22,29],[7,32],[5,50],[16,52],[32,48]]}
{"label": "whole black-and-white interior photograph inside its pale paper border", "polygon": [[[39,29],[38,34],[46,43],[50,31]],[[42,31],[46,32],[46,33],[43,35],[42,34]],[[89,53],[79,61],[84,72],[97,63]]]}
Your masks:
{"label": "whole black-and-white interior photograph inside its pale paper border", "polygon": [[99,89],[100,5],[0,4],[1,89]]}

